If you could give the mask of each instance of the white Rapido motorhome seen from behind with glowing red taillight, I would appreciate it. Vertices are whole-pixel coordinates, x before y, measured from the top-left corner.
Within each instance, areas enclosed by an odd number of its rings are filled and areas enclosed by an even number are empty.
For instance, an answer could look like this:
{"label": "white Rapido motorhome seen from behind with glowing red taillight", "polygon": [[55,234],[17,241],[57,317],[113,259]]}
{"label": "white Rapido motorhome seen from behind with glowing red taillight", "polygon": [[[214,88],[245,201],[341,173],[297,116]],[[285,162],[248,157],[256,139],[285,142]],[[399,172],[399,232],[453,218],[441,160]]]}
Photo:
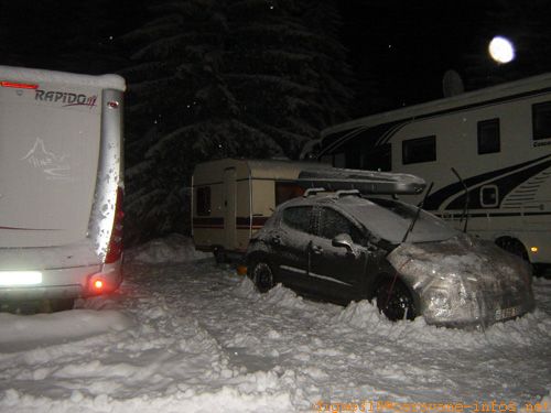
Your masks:
{"label": "white Rapido motorhome seen from behind with glowing red taillight", "polygon": [[0,302],[71,307],[119,286],[125,89],[0,66]]}

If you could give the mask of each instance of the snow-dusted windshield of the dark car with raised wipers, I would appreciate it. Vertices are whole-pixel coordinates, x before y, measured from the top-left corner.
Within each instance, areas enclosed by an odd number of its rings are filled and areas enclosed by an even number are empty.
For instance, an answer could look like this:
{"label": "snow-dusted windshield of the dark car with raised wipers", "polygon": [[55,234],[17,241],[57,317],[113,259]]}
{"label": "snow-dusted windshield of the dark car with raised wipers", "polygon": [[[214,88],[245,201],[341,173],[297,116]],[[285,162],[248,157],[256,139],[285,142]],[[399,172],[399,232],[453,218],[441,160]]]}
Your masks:
{"label": "snow-dusted windshield of the dark car with raised wipers", "polygon": [[[401,202],[382,198],[365,199],[365,203],[350,203],[354,216],[374,235],[392,243],[402,241],[418,208]],[[408,242],[442,241],[455,237],[457,230],[442,219],[421,210]]]}

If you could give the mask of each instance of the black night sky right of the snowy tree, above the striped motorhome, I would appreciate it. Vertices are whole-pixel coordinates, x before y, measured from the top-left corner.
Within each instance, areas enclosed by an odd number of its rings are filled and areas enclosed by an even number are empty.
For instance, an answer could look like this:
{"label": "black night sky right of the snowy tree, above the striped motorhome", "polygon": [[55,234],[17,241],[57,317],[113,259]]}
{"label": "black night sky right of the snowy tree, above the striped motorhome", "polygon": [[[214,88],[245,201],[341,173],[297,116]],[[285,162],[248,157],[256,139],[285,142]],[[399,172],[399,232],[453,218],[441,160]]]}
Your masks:
{"label": "black night sky right of the snowy tree, above the striped motorhome", "polygon": [[[551,70],[544,1],[346,0],[339,7],[349,62],[366,90],[374,77],[381,109],[442,98],[450,69],[466,90]],[[516,61],[491,61],[487,47],[495,35],[515,43]],[[359,110],[369,111],[369,101],[358,100]]]}

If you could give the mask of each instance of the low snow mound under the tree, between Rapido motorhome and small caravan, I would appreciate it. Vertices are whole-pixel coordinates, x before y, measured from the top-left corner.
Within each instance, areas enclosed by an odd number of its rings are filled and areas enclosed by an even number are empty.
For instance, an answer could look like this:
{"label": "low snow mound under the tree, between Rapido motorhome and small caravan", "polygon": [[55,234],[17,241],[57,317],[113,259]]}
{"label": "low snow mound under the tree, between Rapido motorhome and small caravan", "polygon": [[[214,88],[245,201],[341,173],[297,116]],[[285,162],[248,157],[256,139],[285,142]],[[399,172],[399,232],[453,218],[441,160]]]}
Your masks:
{"label": "low snow mound under the tree, between Rapido motorhome and small caravan", "polygon": [[154,239],[126,252],[130,261],[144,263],[177,263],[210,258],[210,253],[195,250],[193,240],[179,233]]}

